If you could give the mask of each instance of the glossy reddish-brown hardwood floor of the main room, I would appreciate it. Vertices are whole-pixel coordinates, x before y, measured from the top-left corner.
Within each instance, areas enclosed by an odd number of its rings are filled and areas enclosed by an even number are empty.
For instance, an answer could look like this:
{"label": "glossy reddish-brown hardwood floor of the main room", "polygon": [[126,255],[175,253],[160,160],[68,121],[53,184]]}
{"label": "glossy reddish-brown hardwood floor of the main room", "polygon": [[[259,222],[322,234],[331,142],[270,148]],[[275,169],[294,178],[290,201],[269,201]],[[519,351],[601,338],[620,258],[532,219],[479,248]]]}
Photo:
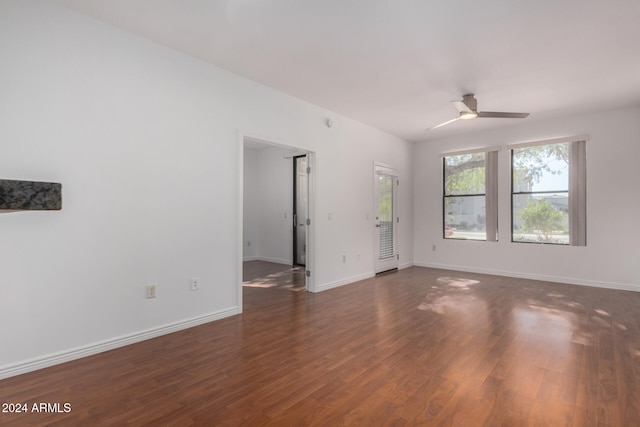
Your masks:
{"label": "glossy reddish-brown hardwood floor of the main room", "polygon": [[0,425],[638,426],[640,293],[409,268],[0,381]]}

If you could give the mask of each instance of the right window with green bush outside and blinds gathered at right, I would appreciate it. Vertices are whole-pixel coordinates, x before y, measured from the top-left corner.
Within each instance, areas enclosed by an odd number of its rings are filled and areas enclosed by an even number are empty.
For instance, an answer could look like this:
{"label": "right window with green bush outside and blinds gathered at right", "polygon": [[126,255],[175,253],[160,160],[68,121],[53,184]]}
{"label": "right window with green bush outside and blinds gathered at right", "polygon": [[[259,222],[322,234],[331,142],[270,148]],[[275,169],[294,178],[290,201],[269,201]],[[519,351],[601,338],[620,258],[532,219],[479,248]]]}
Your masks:
{"label": "right window with green bush outside and blinds gathered at right", "polygon": [[586,245],[585,141],[512,145],[511,240]]}

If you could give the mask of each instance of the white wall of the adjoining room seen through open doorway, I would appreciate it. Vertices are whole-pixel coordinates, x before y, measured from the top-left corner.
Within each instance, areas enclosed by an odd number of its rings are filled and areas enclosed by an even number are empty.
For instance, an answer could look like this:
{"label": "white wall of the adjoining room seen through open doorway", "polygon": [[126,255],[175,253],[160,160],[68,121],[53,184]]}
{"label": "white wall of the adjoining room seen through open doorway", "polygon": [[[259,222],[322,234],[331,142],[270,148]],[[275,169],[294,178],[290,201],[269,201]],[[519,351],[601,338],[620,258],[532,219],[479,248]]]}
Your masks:
{"label": "white wall of the adjoining room seen through open doorway", "polygon": [[293,160],[285,158],[289,152],[277,147],[244,150],[245,260],[293,262]]}

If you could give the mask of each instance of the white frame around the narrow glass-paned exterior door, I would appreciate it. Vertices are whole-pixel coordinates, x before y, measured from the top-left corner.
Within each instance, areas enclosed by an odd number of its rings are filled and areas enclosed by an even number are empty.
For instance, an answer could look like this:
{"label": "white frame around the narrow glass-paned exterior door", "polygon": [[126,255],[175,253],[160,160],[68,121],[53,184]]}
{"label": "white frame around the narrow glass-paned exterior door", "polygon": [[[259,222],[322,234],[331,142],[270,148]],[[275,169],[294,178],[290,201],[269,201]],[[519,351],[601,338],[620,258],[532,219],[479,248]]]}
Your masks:
{"label": "white frame around the narrow glass-paned exterior door", "polygon": [[[378,210],[379,210],[379,192],[378,192],[378,176],[386,175],[395,178],[396,180],[400,180],[400,174],[397,168],[389,166],[384,163],[374,162],[373,163],[373,214],[375,218],[375,224],[373,228],[373,271],[375,274],[383,273],[385,271],[398,269],[400,266],[398,247],[399,247],[399,236],[398,236],[398,223],[400,221],[400,210],[399,210],[399,195],[394,198],[393,204],[393,237],[394,237],[394,253],[393,260],[389,260],[386,262],[380,261],[380,228],[378,223]],[[398,189],[399,191],[399,189]]]}

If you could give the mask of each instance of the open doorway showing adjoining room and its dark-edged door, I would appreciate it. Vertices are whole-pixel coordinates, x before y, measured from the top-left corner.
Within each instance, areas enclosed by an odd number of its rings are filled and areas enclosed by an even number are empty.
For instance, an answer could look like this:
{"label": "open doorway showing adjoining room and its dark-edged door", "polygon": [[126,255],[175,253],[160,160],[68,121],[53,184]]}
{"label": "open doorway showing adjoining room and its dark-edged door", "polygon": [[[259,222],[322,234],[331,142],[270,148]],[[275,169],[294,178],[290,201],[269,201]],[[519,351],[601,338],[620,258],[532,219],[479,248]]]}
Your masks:
{"label": "open doorway showing adjoining room and its dark-edged door", "polygon": [[248,136],[239,145],[239,307],[250,289],[313,292],[315,154]]}

